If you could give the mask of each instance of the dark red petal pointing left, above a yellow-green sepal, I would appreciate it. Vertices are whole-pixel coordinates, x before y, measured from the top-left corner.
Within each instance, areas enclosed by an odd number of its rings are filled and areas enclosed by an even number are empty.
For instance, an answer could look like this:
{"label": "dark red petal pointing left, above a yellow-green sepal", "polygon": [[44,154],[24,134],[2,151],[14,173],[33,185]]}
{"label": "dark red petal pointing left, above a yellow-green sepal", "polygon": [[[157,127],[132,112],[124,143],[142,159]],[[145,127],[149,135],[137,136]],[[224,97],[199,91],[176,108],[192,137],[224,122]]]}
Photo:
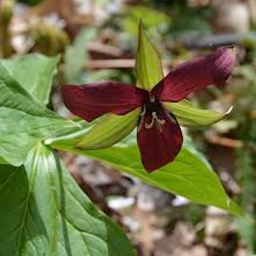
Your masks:
{"label": "dark red petal pointing left, above a yellow-green sepal", "polygon": [[65,106],[89,122],[108,112],[126,114],[143,105],[148,98],[148,92],[143,89],[112,81],[61,85],[60,89]]}

